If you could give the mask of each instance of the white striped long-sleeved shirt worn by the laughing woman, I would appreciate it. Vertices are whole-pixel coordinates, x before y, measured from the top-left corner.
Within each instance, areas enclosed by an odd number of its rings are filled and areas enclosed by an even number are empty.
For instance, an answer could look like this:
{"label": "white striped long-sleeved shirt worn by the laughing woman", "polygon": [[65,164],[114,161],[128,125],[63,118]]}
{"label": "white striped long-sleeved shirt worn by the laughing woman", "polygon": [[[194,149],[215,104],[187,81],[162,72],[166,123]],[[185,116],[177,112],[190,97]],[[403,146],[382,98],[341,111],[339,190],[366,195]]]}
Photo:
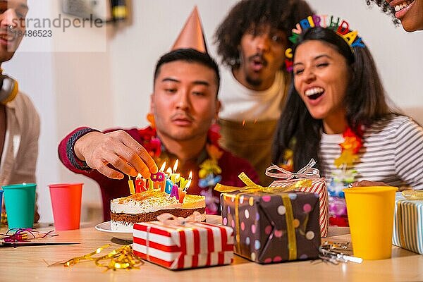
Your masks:
{"label": "white striped long-sleeved shirt worn by the laughing woman", "polygon": [[[333,164],[341,155],[341,134],[322,133],[320,158],[324,176],[331,182],[340,168]],[[410,185],[423,189],[423,128],[407,116],[377,121],[364,131],[363,147],[352,167],[356,181],[382,181],[388,185]]]}

